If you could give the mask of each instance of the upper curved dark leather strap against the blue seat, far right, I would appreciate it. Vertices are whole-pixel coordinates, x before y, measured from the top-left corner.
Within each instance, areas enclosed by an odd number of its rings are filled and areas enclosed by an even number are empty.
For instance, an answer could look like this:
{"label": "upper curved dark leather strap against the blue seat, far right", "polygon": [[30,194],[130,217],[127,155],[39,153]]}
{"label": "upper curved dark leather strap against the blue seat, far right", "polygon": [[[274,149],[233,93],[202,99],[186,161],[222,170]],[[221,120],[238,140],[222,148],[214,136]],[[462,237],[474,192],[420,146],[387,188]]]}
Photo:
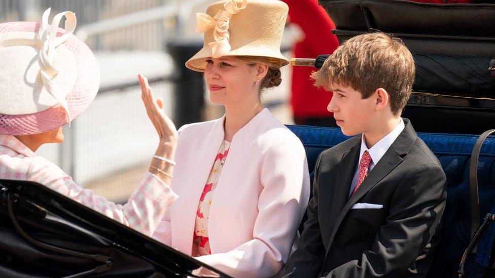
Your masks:
{"label": "upper curved dark leather strap against the blue seat, far right", "polygon": [[486,137],[494,133],[495,129],[487,130],[480,135],[476,144],[474,144],[473,152],[471,153],[471,162],[469,164],[469,188],[471,192],[471,239],[473,239],[476,231],[479,228],[479,196],[478,196],[478,158],[481,151],[481,146]]}

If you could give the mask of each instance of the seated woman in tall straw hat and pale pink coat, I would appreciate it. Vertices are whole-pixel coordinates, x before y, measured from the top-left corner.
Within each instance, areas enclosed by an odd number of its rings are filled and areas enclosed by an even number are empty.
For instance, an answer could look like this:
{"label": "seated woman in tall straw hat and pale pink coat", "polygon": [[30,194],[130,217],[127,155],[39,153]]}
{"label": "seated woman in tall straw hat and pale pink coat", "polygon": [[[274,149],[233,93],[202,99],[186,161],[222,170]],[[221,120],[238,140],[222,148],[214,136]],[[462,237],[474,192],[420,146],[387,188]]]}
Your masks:
{"label": "seated woman in tall straw hat and pale pink coat", "polygon": [[171,186],[180,198],[153,237],[234,277],[276,274],[308,203],[304,148],[260,101],[288,64],[280,54],[287,13],[276,0],[210,5],[197,15],[204,46],[186,63],[204,72],[225,115],[179,129]]}

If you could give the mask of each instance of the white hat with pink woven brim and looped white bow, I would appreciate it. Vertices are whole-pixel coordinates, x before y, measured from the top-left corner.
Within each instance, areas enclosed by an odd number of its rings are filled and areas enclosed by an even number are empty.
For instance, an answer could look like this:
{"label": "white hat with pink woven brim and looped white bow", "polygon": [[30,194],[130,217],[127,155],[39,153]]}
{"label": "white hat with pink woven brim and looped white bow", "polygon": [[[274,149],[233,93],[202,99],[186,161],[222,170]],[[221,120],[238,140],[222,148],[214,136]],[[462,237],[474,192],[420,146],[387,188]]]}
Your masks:
{"label": "white hat with pink woven brim and looped white bow", "polygon": [[[91,50],[73,35],[76,15],[0,23],[0,134],[42,133],[74,120],[93,101],[100,74]],[[62,17],[65,29],[58,28]],[[57,28],[55,34],[51,30]]]}

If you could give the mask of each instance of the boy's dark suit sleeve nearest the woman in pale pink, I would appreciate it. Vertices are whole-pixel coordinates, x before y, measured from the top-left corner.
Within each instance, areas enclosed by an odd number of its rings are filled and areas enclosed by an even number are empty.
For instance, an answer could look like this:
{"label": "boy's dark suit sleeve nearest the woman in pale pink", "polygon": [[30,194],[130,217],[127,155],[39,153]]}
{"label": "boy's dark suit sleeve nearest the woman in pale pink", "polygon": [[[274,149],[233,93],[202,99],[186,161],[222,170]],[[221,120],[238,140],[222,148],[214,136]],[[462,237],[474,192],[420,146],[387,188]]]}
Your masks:
{"label": "boy's dark suit sleeve nearest the woman in pale pink", "polygon": [[325,246],[318,220],[318,177],[321,158],[322,154],[320,154],[314,168],[313,197],[309,201],[308,219],[304,222],[304,230],[297,244],[297,249],[276,277],[316,277],[321,272],[325,258]]}

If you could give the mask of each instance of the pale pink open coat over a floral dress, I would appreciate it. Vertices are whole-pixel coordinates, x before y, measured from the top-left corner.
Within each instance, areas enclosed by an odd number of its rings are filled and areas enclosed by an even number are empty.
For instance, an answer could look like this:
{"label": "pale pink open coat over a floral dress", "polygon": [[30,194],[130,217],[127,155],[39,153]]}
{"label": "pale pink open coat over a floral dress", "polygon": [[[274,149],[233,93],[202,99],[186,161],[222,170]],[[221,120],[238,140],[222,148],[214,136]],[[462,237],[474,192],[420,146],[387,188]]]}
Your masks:
{"label": "pale pink open coat over a floral dress", "polygon": [[[180,196],[153,237],[191,255],[199,198],[224,140],[224,117],[180,129],[172,190]],[[269,277],[287,261],[309,201],[304,147],[268,109],[233,137],[211,204],[212,255],[234,277]]]}

